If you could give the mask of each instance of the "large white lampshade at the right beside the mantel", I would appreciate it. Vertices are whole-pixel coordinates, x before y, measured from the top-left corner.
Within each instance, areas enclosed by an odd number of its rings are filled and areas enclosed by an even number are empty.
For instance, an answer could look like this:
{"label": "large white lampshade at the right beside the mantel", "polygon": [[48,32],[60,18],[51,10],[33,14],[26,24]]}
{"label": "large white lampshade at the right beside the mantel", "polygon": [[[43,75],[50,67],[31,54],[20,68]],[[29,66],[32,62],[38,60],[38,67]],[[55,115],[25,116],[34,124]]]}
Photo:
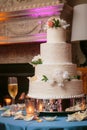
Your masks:
{"label": "large white lampshade at the right beside the mantel", "polygon": [[71,41],[87,40],[87,4],[74,6]]}

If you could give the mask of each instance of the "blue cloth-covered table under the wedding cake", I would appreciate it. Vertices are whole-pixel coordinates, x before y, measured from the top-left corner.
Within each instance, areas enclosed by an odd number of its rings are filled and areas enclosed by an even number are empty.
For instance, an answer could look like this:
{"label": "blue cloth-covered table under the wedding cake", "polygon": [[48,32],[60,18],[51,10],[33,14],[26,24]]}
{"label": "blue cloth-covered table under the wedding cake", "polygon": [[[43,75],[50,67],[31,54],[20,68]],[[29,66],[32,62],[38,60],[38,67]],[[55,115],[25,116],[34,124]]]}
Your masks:
{"label": "blue cloth-covered table under the wedding cake", "polygon": [[64,116],[58,117],[55,121],[43,119],[42,122],[37,122],[36,120],[14,120],[13,117],[0,116],[0,130],[87,130],[87,120],[67,122],[66,118]]}

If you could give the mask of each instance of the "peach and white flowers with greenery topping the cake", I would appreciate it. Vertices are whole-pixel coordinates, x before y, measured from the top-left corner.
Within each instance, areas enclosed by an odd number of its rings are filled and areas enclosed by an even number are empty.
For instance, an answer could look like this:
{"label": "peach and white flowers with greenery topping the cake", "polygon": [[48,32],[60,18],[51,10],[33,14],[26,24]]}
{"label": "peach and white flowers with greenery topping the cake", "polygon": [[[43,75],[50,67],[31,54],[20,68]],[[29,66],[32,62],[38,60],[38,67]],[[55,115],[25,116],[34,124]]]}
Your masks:
{"label": "peach and white flowers with greenery topping the cake", "polygon": [[47,28],[53,28],[53,27],[62,27],[66,29],[70,24],[67,24],[67,22],[61,18],[57,17],[51,17],[47,21]]}

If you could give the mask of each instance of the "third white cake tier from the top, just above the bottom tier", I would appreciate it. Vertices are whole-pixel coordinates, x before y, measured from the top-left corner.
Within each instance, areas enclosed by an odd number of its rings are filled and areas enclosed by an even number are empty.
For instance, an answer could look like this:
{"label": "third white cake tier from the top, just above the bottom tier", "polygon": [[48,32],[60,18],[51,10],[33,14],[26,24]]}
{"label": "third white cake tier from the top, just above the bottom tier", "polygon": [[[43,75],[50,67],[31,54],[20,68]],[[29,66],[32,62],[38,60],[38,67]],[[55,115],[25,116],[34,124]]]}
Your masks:
{"label": "third white cake tier from the top, just above the bottom tier", "polygon": [[35,67],[35,75],[41,78],[46,75],[48,78],[52,78],[53,74],[56,72],[67,71],[71,76],[77,75],[77,66],[72,63],[65,64],[39,64]]}

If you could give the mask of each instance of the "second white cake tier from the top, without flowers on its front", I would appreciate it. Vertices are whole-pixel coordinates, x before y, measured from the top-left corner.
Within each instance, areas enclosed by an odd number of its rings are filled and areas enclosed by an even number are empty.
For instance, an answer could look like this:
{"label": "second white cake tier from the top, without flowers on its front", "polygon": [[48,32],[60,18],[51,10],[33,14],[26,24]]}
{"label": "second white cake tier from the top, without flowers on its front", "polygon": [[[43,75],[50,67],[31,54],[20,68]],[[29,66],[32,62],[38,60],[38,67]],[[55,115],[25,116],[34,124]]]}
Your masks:
{"label": "second white cake tier from the top, without flowers on its front", "polygon": [[72,62],[71,44],[54,43],[41,44],[40,55],[43,64],[70,63]]}

